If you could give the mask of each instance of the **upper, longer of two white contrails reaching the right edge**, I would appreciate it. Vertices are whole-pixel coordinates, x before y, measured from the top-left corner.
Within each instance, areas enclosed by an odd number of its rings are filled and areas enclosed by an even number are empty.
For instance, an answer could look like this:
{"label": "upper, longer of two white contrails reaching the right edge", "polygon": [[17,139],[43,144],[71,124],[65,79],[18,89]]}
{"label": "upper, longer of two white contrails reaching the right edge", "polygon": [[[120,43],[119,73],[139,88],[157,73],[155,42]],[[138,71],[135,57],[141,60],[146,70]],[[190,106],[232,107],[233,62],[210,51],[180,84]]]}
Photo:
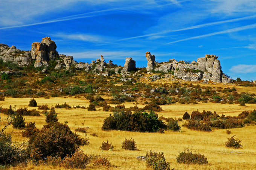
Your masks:
{"label": "upper, longer of two white contrails reaching the right edge", "polygon": [[159,33],[152,33],[152,34],[147,34],[147,35],[143,35],[143,36],[130,37],[130,38],[125,38],[125,39],[120,39],[118,41],[136,39],[136,38],[148,37],[148,36],[154,36],[154,35],[158,35],[158,34],[165,34],[165,33],[171,33],[171,32],[176,32],[176,31],[191,30],[191,29],[195,29],[195,28],[208,27],[208,26],[211,26],[211,25],[219,25],[219,24],[225,24],[225,23],[228,23],[228,22],[236,22],[236,21],[241,21],[241,20],[245,20],[245,19],[253,19],[253,18],[256,18],[256,15],[245,16],[245,17],[236,18],[236,19],[229,19],[229,20],[225,20],[225,21],[210,22],[210,23],[206,23],[206,24],[195,25],[195,26],[192,26],[192,27],[181,28],[181,29],[178,29],[178,30],[162,31],[162,32],[159,32]]}

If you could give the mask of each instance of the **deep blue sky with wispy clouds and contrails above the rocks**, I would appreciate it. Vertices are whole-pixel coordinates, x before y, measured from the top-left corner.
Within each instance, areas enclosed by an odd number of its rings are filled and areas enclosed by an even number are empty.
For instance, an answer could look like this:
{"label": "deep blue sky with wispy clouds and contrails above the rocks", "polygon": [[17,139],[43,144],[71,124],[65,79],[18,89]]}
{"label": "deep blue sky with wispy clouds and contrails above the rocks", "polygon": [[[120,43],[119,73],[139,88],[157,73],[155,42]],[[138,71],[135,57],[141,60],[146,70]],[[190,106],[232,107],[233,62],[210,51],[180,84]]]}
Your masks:
{"label": "deep blue sky with wispy clouds and contrails above the rocks", "polygon": [[76,61],[213,54],[233,79],[256,79],[256,0],[1,0],[0,43],[30,50],[46,36]]}

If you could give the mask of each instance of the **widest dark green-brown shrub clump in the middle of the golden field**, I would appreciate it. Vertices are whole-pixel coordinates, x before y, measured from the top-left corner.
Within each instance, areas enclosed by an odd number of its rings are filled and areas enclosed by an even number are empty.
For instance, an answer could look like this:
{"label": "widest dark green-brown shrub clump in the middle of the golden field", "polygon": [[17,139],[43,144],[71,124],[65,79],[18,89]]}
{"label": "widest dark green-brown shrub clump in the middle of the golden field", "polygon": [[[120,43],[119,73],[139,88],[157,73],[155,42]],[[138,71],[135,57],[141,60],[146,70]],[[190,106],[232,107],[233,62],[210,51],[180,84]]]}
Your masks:
{"label": "widest dark green-brown shrub clump in the middle of the golden field", "polygon": [[125,111],[115,108],[113,116],[108,116],[102,125],[102,130],[124,130],[139,132],[157,132],[164,124],[154,112],[142,113]]}

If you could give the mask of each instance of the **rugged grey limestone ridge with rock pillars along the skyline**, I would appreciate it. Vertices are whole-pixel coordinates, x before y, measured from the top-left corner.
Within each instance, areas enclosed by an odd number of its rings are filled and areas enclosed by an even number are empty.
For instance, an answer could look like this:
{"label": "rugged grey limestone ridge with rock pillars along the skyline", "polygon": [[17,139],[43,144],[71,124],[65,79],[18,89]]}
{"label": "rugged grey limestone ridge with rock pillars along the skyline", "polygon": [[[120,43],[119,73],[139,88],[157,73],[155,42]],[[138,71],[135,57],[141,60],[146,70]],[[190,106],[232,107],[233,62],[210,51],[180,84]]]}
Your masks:
{"label": "rugged grey limestone ridge with rock pillars along the skyline", "polygon": [[[56,44],[50,37],[45,37],[41,42],[34,42],[31,45],[31,51],[21,51],[15,46],[9,47],[5,44],[0,44],[0,59],[4,62],[11,61],[19,66],[30,65],[35,61],[34,67],[49,66],[49,61],[56,61],[55,70],[66,67],[66,70],[75,68],[77,70],[84,70],[86,72],[92,71],[95,73],[101,73],[101,75],[111,75],[111,72],[121,73],[125,78],[129,75],[128,72],[136,69],[136,61],[128,57],[125,60],[124,67],[113,64],[113,61],[109,60],[105,62],[104,57],[92,60],[91,63],[77,63],[73,60],[73,56],[66,56],[64,54],[58,54],[56,51]],[[222,73],[221,65],[218,56],[205,55],[205,57],[198,58],[197,61],[187,63],[185,61],[177,61],[170,59],[168,62],[157,63],[155,62],[155,55],[151,55],[150,52],[146,52],[146,59],[148,61],[146,70],[147,72],[163,72],[170,73],[175,78],[183,79],[185,81],[212,81],[231,83],[233,82],[228,76]],[[160,79],[152,78],[153,80]]]}

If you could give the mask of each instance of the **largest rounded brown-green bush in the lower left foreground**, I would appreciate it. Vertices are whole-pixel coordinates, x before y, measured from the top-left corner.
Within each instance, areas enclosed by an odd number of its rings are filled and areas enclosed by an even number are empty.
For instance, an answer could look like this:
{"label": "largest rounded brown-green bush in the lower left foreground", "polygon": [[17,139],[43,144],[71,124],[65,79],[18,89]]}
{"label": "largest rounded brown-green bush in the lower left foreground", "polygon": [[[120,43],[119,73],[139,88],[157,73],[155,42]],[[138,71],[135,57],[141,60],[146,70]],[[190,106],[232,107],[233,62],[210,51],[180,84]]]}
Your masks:
{"label": "largest rounded brown-green bush in the lower left foreground", "polygon": [[47,156],[64,158],[77,151],[80,145],[88,145],[88,138],[80,138],[69,126],[51,122],[29,138],[28,153],[35,160]]}

